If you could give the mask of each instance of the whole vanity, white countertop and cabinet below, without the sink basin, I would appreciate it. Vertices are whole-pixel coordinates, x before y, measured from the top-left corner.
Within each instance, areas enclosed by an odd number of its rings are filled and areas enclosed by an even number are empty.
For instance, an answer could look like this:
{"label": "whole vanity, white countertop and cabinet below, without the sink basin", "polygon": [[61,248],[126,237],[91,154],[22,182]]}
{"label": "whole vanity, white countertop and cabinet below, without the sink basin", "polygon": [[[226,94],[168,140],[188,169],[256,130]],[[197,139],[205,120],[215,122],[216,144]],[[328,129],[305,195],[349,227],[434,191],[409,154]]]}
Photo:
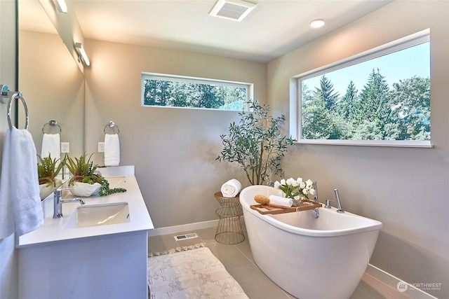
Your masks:
{"label": "whole vanity, white countertop and cabinet below, without the sink basin", "polygon": [[[65,203],[64,216],[54,219],[53,196],[47,197],[43,225],[17,240],[20,299],[148,298],[148,230],[154,225],[134,167],[108,168],[101,172],[111,178],[110,188],[126,192],[84,197],[82,207],[127,202],[129,221],[72,228],[68,219],[81,206]],[[73,198],[65,193],[64,199]]]}

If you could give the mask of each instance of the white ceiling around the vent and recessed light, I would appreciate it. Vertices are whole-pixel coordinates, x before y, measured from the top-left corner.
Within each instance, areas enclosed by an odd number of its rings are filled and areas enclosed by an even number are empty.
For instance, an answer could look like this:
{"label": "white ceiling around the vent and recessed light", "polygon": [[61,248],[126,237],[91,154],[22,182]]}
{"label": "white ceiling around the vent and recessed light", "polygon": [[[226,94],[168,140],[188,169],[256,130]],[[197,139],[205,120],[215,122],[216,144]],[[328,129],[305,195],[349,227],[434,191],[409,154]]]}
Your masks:
{"label": "white ceiling around the vent and recessed light", "polygon": [[[269,62],[392,0],[251,0],[241,22],[210,16],[217,0],[66,1],[86,39]],[[326,25],[311,29],[317,18]]]}

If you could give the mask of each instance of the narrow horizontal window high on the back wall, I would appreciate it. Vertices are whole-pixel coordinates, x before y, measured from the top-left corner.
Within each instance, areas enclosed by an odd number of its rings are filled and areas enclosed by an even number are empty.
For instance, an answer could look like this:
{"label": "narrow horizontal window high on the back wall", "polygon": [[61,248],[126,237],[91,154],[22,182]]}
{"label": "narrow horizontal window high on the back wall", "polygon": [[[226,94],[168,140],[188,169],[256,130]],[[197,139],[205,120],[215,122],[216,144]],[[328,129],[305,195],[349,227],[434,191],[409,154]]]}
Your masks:
{"label": "narrow horizontal window high on the back wall", "polygon": [[142,74],[142,106],[248,111],[253,85],[205,78]]}

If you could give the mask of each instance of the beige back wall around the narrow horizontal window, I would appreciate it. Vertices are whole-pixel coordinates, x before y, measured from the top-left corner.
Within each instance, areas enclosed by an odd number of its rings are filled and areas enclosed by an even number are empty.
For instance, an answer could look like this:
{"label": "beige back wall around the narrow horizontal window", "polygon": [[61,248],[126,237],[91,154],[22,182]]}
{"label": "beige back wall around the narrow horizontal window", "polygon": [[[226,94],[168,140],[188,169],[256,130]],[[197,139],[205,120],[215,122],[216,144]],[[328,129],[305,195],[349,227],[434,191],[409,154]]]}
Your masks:
{"label": "beige back wall around the narrow horizontal window", "polygon": [[[91,67],[86,76],[86,153],[104,141],[109,120],[120,129],[121,165],[135,165],[142,195],[156,228],[217,218],[213,194],[236,177],[228,162],[217,162],[220,134],[237,112],[142,107],[142,71],[254,83],[265,101],[266,64],[160,48],[86,40]],[[104,165],[104,155],[95,154]]]}

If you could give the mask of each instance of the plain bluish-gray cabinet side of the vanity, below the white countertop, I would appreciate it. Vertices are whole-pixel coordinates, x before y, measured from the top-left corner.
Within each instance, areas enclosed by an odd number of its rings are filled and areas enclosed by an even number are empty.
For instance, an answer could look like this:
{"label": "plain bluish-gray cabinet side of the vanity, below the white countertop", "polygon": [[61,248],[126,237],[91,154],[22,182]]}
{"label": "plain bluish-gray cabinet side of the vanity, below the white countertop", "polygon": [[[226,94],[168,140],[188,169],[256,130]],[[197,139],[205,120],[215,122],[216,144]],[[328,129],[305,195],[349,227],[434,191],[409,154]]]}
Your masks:
{"label": "plain bluish-gray cabinet side of the vanity, below the white countertop", "polygon": [[19,298],[148,298],[147,231],[25,246]]}

